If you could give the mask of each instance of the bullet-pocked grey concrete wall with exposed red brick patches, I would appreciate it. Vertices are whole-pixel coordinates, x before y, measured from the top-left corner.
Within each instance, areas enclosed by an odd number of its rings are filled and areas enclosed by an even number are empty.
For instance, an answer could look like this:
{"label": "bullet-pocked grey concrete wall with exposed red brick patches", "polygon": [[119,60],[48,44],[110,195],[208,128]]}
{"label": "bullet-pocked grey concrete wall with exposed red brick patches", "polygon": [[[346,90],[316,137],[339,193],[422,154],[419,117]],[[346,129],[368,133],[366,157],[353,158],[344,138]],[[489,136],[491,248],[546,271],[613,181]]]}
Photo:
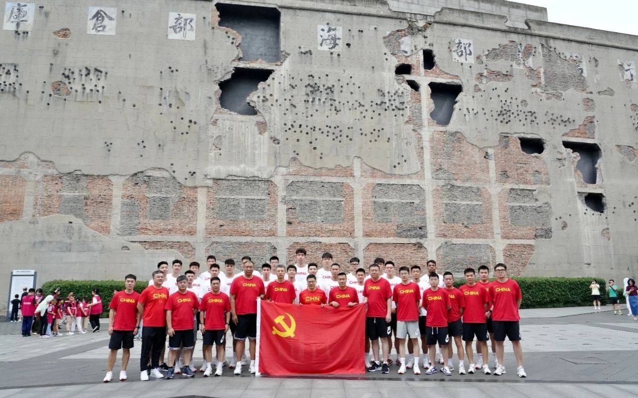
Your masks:
{"label": "bullet-pocked grey concrete wall with exposed red brick patches", "polygon": [[[270,7],[278,40],[209,1],[112,0],[103,31],[93,3],[38,5],[0,31],[0,272],[145,277],[304,246],[635,275],[638,39],[448,3],[240,4]],[[569,148],[592,145],[588,183]]]}

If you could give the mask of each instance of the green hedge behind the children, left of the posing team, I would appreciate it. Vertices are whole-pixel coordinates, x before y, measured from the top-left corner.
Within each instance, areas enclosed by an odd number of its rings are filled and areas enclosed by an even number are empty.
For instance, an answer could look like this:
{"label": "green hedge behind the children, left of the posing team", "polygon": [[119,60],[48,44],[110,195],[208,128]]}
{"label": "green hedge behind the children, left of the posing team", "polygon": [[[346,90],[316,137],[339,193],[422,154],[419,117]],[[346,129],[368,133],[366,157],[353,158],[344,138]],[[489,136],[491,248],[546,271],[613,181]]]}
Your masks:
{"label": "green hedge behind the children, left of the posing team", "polygon": [[[146,286],[148,286],[148,281],[137,281],[135,291],[140,293]],[[73,291],[75,297],[79,300],[82,300],[82,297],[91,297],[91,291],[94,288],[98,288],[102,300],[102,316],[108,318],[108,303],[111,302],[113,291],[124,290],[124,281],[63,281],[54,279],[42,285],[42,291],[45,295],[53,293],[56,288],[62,289],[61,295],[63,297]]]}

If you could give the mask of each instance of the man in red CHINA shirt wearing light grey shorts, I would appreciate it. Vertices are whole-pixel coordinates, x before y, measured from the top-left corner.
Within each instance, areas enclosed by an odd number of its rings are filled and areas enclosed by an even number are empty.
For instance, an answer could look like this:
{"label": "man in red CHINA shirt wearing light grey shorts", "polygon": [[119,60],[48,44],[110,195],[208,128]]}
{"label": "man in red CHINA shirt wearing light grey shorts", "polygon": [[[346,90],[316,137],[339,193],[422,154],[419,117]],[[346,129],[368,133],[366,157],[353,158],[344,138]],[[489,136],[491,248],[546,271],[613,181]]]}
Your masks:
{"label": "man in red CHINA shirt wearing light grey shorts", "polygon": [[[413,347],[419,347],[419,302],[421,293],[419,285],[410,281],[410,269],[408,267],[399,268],[401,283],[394,286],[392,300],[396,304],[397,330],[396,338],[399,341],[399,374],[404,374],[405,363],[405,339],[410,336]],[[417,350],[418,351],[418,350]],[[412,368],[414,374],[421,374],[419,369],[419,354]]]}

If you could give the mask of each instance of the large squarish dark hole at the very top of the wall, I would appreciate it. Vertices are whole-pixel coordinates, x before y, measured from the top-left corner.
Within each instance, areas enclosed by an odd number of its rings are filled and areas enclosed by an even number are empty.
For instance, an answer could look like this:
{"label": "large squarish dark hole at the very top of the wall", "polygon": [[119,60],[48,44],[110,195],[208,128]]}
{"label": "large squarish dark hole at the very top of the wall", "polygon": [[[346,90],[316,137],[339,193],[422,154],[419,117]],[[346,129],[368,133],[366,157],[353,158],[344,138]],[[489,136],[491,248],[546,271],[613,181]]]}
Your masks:
{"label": "large squarish dark hole at the very top of the wall", "polygon": [[242,61],[279,62],[279,11],[271,7],[217,3],[219,26],[241,35]]}

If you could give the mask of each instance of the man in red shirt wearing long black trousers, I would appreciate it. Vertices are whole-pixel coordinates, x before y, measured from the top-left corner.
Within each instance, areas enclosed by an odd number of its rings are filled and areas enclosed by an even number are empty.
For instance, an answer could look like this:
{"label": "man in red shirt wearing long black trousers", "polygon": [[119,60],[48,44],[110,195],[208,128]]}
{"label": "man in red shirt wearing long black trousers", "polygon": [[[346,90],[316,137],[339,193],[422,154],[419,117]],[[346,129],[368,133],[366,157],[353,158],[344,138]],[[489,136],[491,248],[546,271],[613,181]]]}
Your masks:
{"label": "man in red shirt wearing long black trousers", "polygon": [[142,314],[142,352],[140,353],[140,380],[149,380],[149,357],[151,359],[150,375],[163,378],[159,372],[159,355],[166,344],[166,313],[164,306],[168,300],[168,289],[163,287],[164,272],[153,271],[153,284],[140,294],[137,311]]}

